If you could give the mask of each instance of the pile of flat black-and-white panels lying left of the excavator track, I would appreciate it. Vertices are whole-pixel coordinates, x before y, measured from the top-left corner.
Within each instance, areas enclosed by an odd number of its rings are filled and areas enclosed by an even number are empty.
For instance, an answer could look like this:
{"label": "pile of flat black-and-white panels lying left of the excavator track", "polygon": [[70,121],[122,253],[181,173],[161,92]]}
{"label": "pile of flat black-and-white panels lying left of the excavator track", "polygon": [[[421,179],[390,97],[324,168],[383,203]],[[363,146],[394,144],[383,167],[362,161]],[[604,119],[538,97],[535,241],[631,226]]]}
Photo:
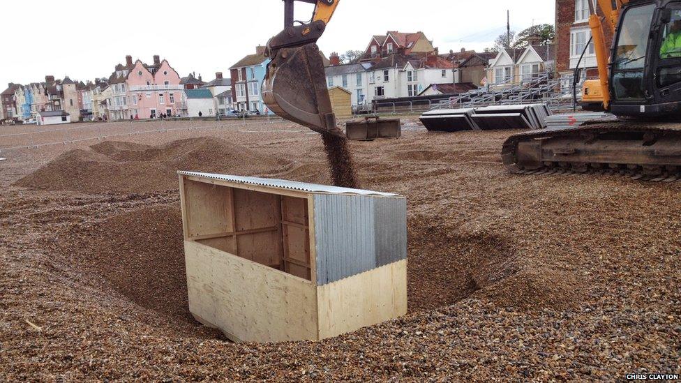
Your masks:
{"label": "pile of flat black-and-white panels lying left of the excavator track", "polygon": [[421,115],[428,130],[456,132],[458,130],[546,128],[551,110],[546,104],[495,105],[477,109],[431,110]]}

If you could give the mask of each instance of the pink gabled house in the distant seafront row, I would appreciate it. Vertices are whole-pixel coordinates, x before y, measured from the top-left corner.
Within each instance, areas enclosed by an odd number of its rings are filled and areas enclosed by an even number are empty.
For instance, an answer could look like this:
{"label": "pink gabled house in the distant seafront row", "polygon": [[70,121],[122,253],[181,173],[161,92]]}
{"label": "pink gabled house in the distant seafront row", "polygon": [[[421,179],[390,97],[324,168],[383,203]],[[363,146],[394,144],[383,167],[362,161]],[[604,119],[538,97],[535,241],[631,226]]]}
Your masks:
{"label": "pink gabled house in the distant seafront row", "polygon": [[154,119],[181,114],[182,91],[180,76],[168,61],[154,56],[154,65],[137,60],[126,78],[130,117]]}

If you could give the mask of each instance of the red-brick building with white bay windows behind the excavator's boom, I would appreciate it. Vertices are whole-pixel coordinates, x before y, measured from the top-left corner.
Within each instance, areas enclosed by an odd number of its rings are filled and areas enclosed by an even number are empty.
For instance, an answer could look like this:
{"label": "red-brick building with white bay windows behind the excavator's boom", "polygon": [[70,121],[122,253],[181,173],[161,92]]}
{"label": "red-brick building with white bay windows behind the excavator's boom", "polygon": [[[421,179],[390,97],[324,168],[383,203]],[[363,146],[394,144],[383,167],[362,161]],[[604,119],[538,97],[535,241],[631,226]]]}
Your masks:
{"label": "red-brick building with white bay windows behind the excavator's boom", "polygon": [[[555,26],[556,26],[556,70],[561,77],[567,78],[574,73],[579,57],[584,47],[591,38],[589,28],[590,9],[597,7],[598,13],[604,16],[603,10],[596,1],[590,4],[590,0],[556,0],[555,1]],[[604,24],[606,33],[606,45],[612,45],[613,33],[611,27]],[[586,68],[583,77],[598,77],[596,52],[593,42],[584,55],[580,64]]]}

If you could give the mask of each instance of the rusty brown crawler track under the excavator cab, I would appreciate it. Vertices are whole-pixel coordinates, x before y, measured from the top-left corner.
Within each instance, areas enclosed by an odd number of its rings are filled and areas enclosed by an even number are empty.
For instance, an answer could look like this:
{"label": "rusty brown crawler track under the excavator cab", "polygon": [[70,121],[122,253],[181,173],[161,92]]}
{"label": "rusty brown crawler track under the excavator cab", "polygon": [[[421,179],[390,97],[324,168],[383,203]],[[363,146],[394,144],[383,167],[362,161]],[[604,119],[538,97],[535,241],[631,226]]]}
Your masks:
{"label": "rusty brown crawler track under the excavator cab", "polygon": [[681,123],[614,121],[535,130],[504,143],[515,174],[611,174],[655,182],[681,180]]}

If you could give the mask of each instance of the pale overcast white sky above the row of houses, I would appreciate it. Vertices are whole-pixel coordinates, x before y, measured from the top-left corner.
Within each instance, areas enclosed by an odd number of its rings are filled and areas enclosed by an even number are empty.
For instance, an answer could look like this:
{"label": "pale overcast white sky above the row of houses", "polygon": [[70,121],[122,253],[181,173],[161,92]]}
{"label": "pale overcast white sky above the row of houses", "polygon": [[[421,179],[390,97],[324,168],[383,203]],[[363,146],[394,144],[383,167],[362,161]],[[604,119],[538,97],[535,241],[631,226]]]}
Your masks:
{"label": "pale overcast white sky above the row of houses", "polygon": [[[322,51],[364,50],[374,34],[423,31],[440,52],[484,50],[506,29],[553,24],[553,0],[341,0],[324,36]],[[313,6],[299,3],[297,20],[309,20]],[[74,80],[108,77],[127,54],[151,62],[167,59],[181,76],[213,80],[255,45],[283,28],[280,0],[3,1],[0,87],[8,82],[44,81],[45,75]],[[11,43],[10,43],[11,41]],[[25,45],[20,45],[24,43]],[[12,52],[10,49],[12,48]]]}

